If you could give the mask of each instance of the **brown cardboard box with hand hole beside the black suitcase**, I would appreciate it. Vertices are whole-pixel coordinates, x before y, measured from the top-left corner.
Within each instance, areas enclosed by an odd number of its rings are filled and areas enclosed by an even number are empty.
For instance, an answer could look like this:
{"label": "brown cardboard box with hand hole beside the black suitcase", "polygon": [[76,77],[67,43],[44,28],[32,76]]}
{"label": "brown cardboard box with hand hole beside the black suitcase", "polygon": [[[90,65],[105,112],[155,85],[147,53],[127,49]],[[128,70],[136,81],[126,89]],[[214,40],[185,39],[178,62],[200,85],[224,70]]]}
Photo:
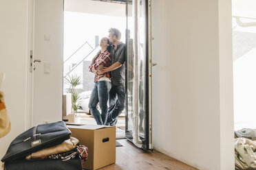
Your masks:
{"label": "brown cardboard box with hand hole beside the black suitcase", "polygon": [[88,147],[83,169],[99,169],[116,162],[116,127],[104,125],[67,125],[71,136]]}

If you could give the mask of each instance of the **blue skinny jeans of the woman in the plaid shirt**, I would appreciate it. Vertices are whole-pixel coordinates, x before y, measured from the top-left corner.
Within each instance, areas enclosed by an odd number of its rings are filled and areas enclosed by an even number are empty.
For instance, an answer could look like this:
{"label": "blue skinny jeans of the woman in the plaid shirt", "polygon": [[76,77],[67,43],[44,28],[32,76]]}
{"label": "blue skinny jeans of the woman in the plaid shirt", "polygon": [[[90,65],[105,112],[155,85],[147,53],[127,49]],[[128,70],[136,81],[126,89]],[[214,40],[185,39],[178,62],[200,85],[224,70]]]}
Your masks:
{"label": "blue skinny jeans of the woman in the plaid shirt", "polygon": [[[110,88],[111,82],[95,82],[91,97],[89,98],[89,109],[92,111],[98,125],[105,125],[107,122],[107,101],[109,99]],[[100,102],[101,114],[97,109],[98,102]]]}

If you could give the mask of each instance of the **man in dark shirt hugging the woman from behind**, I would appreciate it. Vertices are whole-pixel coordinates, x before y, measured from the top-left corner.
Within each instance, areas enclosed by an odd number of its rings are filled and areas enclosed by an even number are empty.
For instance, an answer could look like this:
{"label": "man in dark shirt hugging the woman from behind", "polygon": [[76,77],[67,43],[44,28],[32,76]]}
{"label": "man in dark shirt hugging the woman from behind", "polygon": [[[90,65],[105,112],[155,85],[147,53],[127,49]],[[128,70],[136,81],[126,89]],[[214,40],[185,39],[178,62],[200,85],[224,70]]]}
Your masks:
{"label": "man in dark shirt hugging the woman from behind", "polygon": [[109,112],[106,125],[116,125],[117,117],[125,109],[125,60],[126,45],[120,42],[121,32],[109,29],[109,43],[112,45],[111,66],[104,67],[98,73],[111,71],[111,90],[109,92]]}

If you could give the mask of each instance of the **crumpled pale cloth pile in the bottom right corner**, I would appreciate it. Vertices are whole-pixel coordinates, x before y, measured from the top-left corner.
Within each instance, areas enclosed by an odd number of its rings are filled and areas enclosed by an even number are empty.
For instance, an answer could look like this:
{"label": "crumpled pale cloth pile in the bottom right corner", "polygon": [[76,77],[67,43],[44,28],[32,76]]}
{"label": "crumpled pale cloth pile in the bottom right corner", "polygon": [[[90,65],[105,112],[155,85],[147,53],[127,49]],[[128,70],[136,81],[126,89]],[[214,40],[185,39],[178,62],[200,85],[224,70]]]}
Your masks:
{"label": "crumpled pale cloth pile in the bottom right corner", "polygon": [[235,169],[256,169],[256,130],[235,131]]}

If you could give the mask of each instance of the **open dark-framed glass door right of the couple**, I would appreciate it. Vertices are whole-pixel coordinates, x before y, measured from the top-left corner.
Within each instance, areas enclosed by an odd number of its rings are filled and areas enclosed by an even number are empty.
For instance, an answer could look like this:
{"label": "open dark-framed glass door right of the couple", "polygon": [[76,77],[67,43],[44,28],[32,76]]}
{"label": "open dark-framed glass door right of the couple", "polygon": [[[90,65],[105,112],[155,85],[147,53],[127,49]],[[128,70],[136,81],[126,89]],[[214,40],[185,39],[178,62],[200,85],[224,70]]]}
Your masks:
{"label": "open dark-framed glass door right of the couple", "polygon": [[151,149],[148,9],[147,0],[127,1],[127,117],[125,134],[129,141],[142,149]]}

